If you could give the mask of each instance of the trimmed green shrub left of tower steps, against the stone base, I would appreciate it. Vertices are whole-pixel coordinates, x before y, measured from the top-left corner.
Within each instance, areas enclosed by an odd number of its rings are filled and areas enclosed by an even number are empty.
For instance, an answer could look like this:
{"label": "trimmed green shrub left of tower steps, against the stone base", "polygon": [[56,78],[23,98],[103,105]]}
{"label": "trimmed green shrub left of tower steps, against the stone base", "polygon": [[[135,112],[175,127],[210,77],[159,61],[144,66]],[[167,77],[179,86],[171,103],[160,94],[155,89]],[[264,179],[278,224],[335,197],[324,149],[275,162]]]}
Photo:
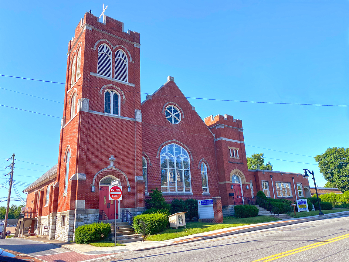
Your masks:
{"label": "trimmed green shrub left of tower steps, against the stone base", "polygon": [[78,226],[75,229],[75,242],[77,244],[89,244],[106,238],[109,233],[110,224],[93,223]]}

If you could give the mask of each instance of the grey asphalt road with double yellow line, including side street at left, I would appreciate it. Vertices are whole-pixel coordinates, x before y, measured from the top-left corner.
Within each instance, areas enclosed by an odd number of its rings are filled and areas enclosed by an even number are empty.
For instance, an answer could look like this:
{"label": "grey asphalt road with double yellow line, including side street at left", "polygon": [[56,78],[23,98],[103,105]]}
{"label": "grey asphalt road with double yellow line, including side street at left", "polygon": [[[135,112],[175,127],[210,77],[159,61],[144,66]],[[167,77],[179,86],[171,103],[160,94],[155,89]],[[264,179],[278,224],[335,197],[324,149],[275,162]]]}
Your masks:
{"label": "grey asphalt road with double yellow line, including side street at left", "polygon": [[[52,244],[24,239],[0,239],[0,247],[29,255],[50,255],[50,261],[151,261],[151,262],[310,262],[349,261],[349,216],[225,236],[187,244],[115,254],[113,258],[82,258]],[[70,259],[68,259],[68,255]],[[86,255],[87,256],[87,255]],[[45,259],[47,260],[47,258]]]}

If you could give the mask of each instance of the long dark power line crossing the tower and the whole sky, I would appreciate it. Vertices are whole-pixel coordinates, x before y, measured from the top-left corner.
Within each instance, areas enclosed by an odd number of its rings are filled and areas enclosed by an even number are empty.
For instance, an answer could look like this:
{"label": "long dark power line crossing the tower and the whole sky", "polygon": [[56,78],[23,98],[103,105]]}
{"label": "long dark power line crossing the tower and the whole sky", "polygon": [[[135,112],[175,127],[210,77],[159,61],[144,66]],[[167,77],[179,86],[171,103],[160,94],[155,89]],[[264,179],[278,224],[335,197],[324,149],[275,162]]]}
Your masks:
{"label": "long dark power line crossing the tower and the whole sky", "polygon": [[[40,81],[40,82],[46,82],[46,83],[55,83],[55,84],[61,84],[61,85],[81,86],[81,87],[92,87],[92,88],[98,88],[98,89],[100,89],[100,87],[95,87],[95,86],[84,86],[84,85],[69,84],[69,83],[62,83],[62,82],[55,82],[55,81],[47,81],[47,80],[41,80],[41,79],[24,78],[24,77],[15,77],[15,76],[13,76],[13,75],[3,75],[3,74],[0,74],[0,76],[2,76],[2,77],[17,78],[17,79],[24,79],[24,80]],[[151,93],[144,93],[144,92],[135,92],[135,91],[125,91],[125,92],[132,92],[132,93],[139,93],[139,94],[151,95]],[[23,93],[23,94],[24,94],[24,93]],[[25,94],[25,95],[27,95],[27,94]],[[156,94],[156,95],[160,95],[160,94]],[[162,96],[171,96],[171,95],[162,95]],[[349,105],[281,103],[281,102],[262,102],[262,101],[242,101],[242,100],[213,99],[213,98],[190,97],[190,96],[172,96],[172,97],[191,98],[191,99],[201,99],[201,100],[212,100],[212,101],[225,101],[225,102],[242,102],[242,103],[286,104],[286,105],[314,105],[314,106],[323,106],[323,107],[349,107]],[[38,98],[42,98],[42,97],[38,97]],[[46,100],[49,100],[49,99],[46,99]],[[53,101],[53,102],[57,102],[57,101]]]}

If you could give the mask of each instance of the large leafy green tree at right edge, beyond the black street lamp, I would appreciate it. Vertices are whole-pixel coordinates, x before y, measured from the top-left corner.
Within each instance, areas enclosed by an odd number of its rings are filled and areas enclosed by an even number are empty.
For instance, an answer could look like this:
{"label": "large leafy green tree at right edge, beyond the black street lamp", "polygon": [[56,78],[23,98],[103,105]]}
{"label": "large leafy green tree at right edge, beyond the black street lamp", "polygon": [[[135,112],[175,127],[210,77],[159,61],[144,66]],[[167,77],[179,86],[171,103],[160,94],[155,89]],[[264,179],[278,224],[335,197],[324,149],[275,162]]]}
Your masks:
{"label": "large leafy green tree at right edge, beyond the black street lamp", "polygon": [[328,182],[335,184],[342,192],[349,190],[349,148],[327,148],[325,153],[314,158]]}

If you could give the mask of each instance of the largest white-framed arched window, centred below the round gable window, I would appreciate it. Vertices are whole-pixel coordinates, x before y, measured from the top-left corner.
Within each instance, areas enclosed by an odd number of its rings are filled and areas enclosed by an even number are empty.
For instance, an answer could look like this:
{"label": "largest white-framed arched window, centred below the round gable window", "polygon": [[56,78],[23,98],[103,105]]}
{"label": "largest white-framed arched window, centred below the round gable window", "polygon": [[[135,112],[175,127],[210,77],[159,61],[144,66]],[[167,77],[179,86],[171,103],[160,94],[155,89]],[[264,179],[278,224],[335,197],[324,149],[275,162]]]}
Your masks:
{"label": "largest white-framed arched window, centred below the round gable window", "polygon": [[183,147],[166,145],[161,150],[160,162],[162,192],[192,191],[189,155]]}

